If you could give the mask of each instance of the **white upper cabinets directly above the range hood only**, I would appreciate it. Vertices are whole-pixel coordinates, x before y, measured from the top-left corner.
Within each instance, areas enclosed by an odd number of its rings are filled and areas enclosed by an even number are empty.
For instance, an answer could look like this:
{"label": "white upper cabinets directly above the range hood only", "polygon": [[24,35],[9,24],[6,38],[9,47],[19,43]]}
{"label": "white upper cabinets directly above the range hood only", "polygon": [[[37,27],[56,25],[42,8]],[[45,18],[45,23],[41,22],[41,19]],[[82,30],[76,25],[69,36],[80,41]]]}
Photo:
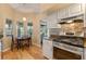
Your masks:
{"label": "white upper cabinets directly above the range hood only", "polygon": [[58,20],[72,17],[84,13],[84,5],[81,3],[73,3],[66,8],[58,10]]}

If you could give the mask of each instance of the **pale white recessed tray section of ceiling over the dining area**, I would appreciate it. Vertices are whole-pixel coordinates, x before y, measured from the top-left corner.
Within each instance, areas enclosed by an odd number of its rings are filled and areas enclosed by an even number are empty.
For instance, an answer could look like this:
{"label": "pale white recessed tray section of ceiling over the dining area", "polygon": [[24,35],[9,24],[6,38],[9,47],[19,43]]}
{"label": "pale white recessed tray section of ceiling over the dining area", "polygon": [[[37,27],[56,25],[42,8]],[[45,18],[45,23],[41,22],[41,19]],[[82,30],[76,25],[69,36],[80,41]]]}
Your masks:
{"label": "pale white recessed tray section of ceiling over the dining area", "polygon": [[11,4],[11,7],[13,9],[15,9],[16,11],[21,11],[21,12],[24,12],[24,13],[28,13],[28,12],[39,12],[40,11],[40,8],[39,8],[39,4],[28,4],[28,3],[13,3]]}

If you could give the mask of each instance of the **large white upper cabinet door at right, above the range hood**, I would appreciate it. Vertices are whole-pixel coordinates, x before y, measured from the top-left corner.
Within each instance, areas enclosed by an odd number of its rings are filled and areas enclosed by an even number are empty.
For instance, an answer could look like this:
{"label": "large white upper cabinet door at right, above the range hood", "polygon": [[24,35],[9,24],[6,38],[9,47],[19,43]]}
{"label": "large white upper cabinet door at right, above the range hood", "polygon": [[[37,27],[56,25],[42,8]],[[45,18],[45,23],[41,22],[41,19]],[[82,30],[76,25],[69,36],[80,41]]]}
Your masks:
{"label": "large white upper cabinet door at right, above the range hood", "polygon": [[79,3],[74,3],[69,7],[69,16],[78,15],[82,13],[82,5]]}

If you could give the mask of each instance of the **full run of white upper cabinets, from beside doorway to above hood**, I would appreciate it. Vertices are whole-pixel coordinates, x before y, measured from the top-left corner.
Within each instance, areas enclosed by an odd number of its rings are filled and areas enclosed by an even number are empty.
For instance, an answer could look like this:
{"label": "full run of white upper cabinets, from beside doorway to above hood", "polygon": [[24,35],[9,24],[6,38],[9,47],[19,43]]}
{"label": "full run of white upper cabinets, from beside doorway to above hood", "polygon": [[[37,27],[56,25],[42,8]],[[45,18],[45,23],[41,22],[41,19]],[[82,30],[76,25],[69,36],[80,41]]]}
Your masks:
{"label": "full run of white upper cabinets, from beside doorway to above hood", "polygon": [[81,3],[72,3],[65,8],[59,9],[57,12],[53,12],[46,17],[48,28],[61,28],[58,23],[60,23],[62,18],[83,14],[84,9],[84,4]]}

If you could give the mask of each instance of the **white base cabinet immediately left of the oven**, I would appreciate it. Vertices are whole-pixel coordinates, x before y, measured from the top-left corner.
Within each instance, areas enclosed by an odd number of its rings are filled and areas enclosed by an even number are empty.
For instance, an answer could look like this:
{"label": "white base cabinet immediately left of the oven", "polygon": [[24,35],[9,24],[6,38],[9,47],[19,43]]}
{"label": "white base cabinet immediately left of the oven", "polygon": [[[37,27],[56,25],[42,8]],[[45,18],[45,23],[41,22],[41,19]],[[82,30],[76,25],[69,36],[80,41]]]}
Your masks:
{"label": "white base cabinet immediately left of the oven", "polygon": [[53,48],[52,48],[52,41],[44,39],[42,40],[42,53],[44,56],[46,56],[47,59],[52,59],[52,53],[53,53]]}

